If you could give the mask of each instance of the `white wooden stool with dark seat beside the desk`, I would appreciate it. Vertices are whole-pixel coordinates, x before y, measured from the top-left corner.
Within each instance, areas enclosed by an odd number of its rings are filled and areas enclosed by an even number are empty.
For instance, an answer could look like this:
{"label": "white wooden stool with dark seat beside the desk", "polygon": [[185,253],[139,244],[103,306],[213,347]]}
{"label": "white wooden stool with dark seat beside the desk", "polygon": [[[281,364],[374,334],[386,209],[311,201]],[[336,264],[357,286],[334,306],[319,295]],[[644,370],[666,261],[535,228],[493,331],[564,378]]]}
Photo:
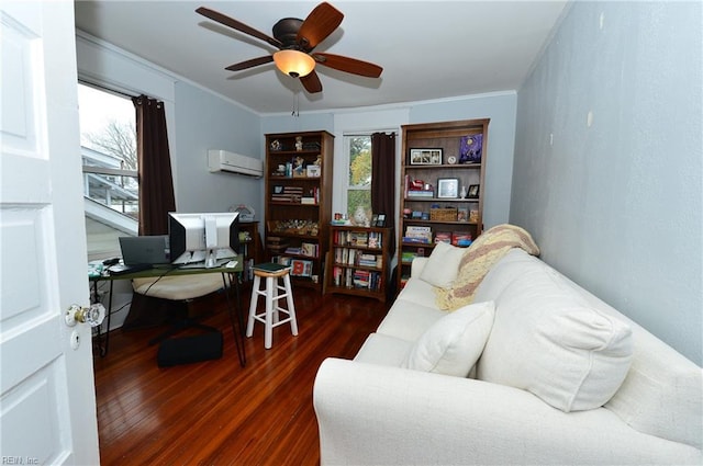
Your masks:
{"label": "white wooden stool with dark seat beside the desk", "polygon": [[[293,292],[290,287],[290,265],[281,265],[275,263],[256,264],[252,268],[254,271],[254,284],[252,286],[252,303],[249,304],[249,319],[246,325],[246,336],[252,337],[254,333],[254,321],[258,320],[264,323],[264,348],[271,348],[272,330],[283,323],[290,322],[290,329],[293,336],[298,334],[298,321],[295,320],[295,306],[293,305]],[[266,279],[266,287],[260,288],[261,277]],[[278,282],[282,279],[283,285]],[[279,294],[279,292],[283,292]],[[266,310],[256,314],[256,307],[259,295],[266,297]],[[288,308],[280,307],[279,299],[286,298]],[[279,312],[288,315],[287,318],[280,320]]]}

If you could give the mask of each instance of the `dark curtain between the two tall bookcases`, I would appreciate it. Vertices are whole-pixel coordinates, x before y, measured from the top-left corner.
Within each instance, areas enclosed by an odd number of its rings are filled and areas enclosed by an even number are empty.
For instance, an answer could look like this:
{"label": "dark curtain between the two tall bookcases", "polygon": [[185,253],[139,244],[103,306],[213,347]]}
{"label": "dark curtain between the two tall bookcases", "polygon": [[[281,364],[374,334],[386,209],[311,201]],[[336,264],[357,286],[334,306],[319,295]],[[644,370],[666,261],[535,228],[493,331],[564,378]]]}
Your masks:
{"label": "dark curtain between the two tall bookcases", "polygon": [[[371,135],[371,209],[386,214],[386,226],[395,225],[395,134]],[[394,249],[391,231],[390,250]]]}

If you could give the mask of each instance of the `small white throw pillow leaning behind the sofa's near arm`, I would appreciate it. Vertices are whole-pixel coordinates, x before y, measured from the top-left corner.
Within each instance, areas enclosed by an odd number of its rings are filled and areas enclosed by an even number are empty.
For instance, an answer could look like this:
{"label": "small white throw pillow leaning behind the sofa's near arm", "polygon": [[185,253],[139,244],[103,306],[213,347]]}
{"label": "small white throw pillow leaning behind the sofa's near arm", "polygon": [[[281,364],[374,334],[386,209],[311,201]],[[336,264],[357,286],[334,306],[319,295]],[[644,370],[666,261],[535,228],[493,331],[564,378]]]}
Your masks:
{"label": "small white throw pillow leaning behind the sofa's near arm", "polygon": [[475,303],[429,327],[408,353],[403,367],[466,377],[491,333],[493,302]]}

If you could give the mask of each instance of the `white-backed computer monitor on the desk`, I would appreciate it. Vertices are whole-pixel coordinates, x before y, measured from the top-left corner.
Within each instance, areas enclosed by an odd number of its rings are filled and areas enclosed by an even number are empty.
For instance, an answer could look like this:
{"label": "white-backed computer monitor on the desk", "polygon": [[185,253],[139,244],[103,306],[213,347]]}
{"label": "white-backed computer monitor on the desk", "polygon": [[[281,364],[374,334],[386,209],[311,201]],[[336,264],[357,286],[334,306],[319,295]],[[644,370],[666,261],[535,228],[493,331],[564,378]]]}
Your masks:
{"label": "white-backed computer monitor on the desk", "polygon": [[239,213],[168,214],[171,263],[220,266],[239,250]]}

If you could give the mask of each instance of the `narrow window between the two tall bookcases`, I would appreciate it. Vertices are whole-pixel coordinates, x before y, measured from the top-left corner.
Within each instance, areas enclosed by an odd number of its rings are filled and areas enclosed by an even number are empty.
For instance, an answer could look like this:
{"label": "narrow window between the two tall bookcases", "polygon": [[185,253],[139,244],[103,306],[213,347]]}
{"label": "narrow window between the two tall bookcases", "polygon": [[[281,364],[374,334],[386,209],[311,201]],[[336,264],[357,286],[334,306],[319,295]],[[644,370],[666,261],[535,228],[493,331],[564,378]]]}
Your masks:
{"label": "narrow window between the two tall bookcases", "polygon": [[347,215],[354,225],[368,226],[371,220],[371,136],[344,137],[347,154]]}

